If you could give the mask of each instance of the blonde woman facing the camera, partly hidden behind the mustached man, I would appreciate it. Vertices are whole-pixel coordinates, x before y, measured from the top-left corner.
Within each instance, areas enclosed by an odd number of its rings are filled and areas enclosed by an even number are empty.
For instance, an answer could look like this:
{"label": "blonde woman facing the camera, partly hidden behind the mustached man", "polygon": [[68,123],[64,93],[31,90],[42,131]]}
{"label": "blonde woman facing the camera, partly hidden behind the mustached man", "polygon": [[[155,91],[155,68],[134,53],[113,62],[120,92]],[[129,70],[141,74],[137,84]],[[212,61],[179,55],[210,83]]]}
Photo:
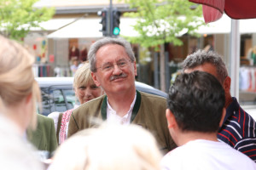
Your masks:
{"label": "blonde woman facing the camera, partly hidden behind the mustached man", "polygon": [[[93,79],[90,75],[90,65],[88,62],[84,62],[84,65],[79,67],[78,71],[76,71],[73,78],[73,89],[81,105],[90,99],[95,99],[104,94],[102,88],[97,87],[93,82]],[[75,105],[73,109],[63,113],[53,112],[49,114],[49,117],[53,118],[55,121],[57,141],[59,144],[67,139],[68,122],[70,116],[72,111],[78,107],[79,105]]]}

